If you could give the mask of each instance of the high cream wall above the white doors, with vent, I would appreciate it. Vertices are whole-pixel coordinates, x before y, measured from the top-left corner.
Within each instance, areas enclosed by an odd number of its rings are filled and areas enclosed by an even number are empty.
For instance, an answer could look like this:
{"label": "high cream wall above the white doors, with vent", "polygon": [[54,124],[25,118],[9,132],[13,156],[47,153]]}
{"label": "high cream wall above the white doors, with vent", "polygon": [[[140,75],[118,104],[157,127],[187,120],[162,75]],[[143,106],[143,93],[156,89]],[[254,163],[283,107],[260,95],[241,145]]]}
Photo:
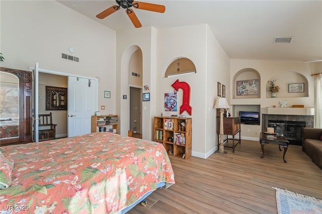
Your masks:
{"label": "high cream wall above the white doors, with vent", "polygon": [[[115,110],[116,33],[56,1],[0,1],[3,67],[39,68],[98,77],[98,105],[102,114]],[[75,49],[74,53],[68,51]],[[79,63],[61,59],[61,53],[79,57]],[[103,91],[111,91],[104,98]],[[94,113],[93,113],[94,114]]]}

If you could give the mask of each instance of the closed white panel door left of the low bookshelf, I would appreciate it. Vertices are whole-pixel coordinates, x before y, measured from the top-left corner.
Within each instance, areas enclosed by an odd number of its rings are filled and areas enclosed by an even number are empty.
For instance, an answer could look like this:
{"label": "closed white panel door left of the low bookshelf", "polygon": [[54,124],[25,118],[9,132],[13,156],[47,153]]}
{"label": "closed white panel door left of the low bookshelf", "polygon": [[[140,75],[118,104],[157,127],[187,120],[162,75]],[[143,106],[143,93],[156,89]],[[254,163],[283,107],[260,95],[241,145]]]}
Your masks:
{"label": "closed white panel door left of the low bookshelf", "polygon": [[95,79],[68,76],[68,137],[91,133],[97,110],[96,84]]}

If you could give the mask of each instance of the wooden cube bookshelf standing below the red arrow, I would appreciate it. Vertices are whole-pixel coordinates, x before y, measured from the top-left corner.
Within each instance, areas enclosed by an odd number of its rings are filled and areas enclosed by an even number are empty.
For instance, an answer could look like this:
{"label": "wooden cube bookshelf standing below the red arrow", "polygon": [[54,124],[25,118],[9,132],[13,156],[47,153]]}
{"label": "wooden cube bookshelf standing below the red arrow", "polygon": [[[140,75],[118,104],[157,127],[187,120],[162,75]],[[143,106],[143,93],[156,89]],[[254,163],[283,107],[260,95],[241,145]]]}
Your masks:
{"label": "wooden cube bookshelf standing below the red arrow", "polygon": [[191,118],[154,117],[153,130],[153,140],[163,144],[168,155],[184,159],[191,157]]}

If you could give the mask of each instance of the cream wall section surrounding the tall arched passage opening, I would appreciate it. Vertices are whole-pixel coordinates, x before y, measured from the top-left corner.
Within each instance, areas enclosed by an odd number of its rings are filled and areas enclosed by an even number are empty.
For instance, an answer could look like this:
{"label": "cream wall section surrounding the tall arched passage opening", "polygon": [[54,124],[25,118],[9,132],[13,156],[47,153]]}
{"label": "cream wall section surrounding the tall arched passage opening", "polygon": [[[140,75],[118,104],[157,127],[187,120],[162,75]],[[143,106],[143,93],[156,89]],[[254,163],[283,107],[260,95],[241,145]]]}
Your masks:
{"label": "cream wall section surrounding the tall arched passage opening", "polygon": [[123,99],[129,95],[129,61],[133,53],[140,48],[142,51],[142,85],[149,86],[150,101],[142,104],[142,138],[152,139],[152,117],[155,115],[155,29],[142,27],[117,32],[116,50],[116,113],[120,115],[119,127],[121,135],[127,136],[129,129],[129,99]]}

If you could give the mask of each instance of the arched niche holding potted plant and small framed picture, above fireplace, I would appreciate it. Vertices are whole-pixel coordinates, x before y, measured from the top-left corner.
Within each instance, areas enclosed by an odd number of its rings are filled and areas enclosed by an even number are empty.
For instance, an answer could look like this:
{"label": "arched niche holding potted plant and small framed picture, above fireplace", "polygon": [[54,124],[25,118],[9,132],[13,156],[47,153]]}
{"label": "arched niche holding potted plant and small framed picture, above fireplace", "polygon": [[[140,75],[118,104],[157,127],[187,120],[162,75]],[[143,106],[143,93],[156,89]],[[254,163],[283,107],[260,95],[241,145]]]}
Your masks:
{"label": "arched niche holding potted plant and small framed picture, above fireplace", "polygon": [[[271,98],[271,92],[269,91],[270,81],[276,80],[275,85],[280,87],[276,97],[308,97],[308,80],[305,76],[295,71],[284,71],[271,76],[266,82],[266,98]],[[304,83],[303,92],[290,92],[289,84]]]}

